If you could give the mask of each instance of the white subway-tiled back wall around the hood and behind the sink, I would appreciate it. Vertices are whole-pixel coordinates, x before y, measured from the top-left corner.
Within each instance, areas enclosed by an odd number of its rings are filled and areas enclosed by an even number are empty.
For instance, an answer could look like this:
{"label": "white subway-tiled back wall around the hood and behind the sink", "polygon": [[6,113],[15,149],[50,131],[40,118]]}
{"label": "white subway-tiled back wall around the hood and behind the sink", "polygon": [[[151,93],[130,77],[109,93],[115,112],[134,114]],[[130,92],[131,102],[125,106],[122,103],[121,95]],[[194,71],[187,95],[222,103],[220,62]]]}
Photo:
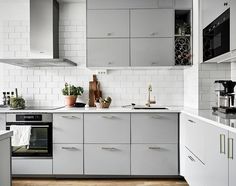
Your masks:
{"label": "white subway-tiled back wall around the hood and behind the sink", "polygon": [[[6,0],[7,1],[7,0]],[[27,2],[27,0],[25,1]],[[0,6],[1,10],[2,6]],[[19,7],[18,8],[23,8]],[[11,7],[8,7],[11,9]],[[27,8],[23,8],[27,11]],[[88,83],[93,71],[85,68],[86,12],[85,3],[64,4],[60,16],[60,56],[74,60],[78,67],[70,68],[18,68],[2,65],[2,90],[18,88],[28,105],[63,105],[61,89],[65,82],[83,86],[88,97]],[[0,11],[1,12],[1,11]],[[12,12],[9,12],[12,13]],[[19,57],[29,52],[28,18],[5,20],[2,47],[5,57]],[[8,31],[7,31],[8,30]],[[0,42],[1,43],[1,42]],[[1,54],[1,52],[0,52]],[[3,56],[0,56],[3,57]],[[144,104],[148,84],[153,85],[152,95],[159,105],[183,106],[183,70],[112,70],[99,76],[104,96],[113,98],[113,106]]]}

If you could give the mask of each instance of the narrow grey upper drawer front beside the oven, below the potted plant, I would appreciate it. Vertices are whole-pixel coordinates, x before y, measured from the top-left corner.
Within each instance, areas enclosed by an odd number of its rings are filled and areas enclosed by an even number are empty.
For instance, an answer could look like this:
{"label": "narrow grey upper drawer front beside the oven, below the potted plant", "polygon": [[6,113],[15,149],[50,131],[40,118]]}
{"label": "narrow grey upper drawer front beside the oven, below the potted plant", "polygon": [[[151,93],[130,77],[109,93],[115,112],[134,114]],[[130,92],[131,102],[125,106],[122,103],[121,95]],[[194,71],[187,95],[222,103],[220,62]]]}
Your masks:
{"label": "narrow grey upper drawer front beside the oven, below the potted plant", "polygon": [[83,143],[83,114],[54,114],[53,143]]}

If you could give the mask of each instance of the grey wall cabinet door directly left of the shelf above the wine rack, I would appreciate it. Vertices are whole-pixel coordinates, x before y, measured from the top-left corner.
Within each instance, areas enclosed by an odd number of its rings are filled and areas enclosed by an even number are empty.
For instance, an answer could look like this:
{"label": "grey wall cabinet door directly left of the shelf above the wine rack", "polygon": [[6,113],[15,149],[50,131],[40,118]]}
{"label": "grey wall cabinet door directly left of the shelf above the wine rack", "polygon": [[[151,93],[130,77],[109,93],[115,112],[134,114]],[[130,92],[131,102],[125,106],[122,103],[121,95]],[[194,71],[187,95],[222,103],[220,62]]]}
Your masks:
{"label": "grey wall cabinet door directly left of the shelf above the wine rack", "polygon": [[174,36],[173,9],[131,10],[130,16],[131,37]]}

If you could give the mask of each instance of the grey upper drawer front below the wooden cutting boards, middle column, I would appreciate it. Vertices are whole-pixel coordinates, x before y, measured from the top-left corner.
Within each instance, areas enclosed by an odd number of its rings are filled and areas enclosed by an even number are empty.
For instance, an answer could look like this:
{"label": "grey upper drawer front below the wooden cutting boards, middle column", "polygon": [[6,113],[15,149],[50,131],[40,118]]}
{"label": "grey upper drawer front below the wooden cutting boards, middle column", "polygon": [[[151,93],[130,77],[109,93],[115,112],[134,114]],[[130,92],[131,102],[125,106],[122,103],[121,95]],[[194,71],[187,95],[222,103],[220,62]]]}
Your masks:
{"label": "grey upper drawer front below the wooden cutting boards, middle column", "polygon": [[130,143],[130,114],[85,114],[85,143]]}

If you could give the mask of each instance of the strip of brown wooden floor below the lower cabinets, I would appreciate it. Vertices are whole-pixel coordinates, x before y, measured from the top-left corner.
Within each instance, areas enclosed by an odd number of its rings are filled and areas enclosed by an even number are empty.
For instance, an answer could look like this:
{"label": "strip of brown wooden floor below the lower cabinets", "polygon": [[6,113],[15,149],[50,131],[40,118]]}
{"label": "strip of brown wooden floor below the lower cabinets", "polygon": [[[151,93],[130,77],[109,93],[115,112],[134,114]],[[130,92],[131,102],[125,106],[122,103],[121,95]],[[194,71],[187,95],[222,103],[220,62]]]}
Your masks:
{"label": "strip of brown wooden floor below the lower cabinets", "polygon": [[188,186],[177,179],[14,179],[12,186]]}

